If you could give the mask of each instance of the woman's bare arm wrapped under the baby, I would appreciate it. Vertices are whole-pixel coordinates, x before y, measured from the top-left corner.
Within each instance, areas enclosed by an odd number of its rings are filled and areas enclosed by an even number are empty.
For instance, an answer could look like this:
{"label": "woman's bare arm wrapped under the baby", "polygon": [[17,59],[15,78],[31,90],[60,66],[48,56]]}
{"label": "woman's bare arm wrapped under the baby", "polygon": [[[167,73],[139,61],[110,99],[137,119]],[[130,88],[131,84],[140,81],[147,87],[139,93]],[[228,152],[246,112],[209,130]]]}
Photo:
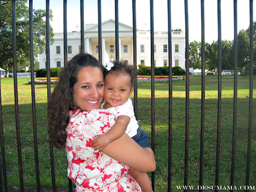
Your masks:
{"label": "woman's bare arm wrapped under the baby", "polygon": [[153,172],[156,169],[153,151],[142,148],[127,134],[110,142],[102,152],[141,172]]}

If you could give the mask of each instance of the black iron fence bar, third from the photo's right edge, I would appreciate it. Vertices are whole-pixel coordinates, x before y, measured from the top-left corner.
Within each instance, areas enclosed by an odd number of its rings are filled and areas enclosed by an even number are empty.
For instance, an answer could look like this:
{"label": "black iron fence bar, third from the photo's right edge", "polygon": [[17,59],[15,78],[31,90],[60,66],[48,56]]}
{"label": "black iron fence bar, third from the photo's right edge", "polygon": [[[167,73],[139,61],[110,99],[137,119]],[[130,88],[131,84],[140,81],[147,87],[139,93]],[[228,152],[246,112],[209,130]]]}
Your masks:
{"label": "black iron fence bar, third from the photo's right edge", "polygon": [[[222,49],[221,49],[221,7],[218,0],[218,119],[217,119],[217,144],[216,144],[216,172],[215,185],[219,184],[219,169],[220,169],[220,127],[221,127],[221,71],[222,71]],[[217,192],[218,189],[215,189]]]}

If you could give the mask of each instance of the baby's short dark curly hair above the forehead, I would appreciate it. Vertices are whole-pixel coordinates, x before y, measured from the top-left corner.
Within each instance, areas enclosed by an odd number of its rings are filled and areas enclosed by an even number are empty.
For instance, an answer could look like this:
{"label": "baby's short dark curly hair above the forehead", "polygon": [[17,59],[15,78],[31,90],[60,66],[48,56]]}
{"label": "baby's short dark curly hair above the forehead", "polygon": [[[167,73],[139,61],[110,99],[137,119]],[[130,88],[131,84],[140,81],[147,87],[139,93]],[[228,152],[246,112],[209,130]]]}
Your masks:
{"label": "baby's short dark curly hair above the forehead", "polygon": [[130,76],[130,84],[131,87],[133,86],[133,78],[134,78],[134,66],[133,65],[128,65],[127,62],[124,61],[113,61],[112,62],[114,64],[113,67],[111,67],[111,69],[108,71],[105,68],[104,71],[104,78],[108,75],[108,74],[119,74],[119,73],[123,73],[126,74],[128,76]]}

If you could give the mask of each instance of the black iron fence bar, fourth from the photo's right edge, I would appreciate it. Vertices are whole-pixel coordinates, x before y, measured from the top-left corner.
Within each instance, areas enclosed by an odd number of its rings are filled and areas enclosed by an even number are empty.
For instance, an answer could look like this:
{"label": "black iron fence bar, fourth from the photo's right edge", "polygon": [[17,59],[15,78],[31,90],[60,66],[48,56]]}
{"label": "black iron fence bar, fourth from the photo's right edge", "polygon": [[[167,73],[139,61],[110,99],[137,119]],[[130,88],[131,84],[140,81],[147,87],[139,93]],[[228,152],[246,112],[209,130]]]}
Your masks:
{"label": "black iron fence bar, fourth from the photo's right edge", "polygon": [[[202,34],[202,88],[201,88],[201,135],[200,135],[200,170],[199,185],[203,186],[203,167],[204,167],[204,114],[205,114],[205,23],[204,23],[204,0],[201,0],[201,34]],[[202,192],[200,188],[199,192]]]}

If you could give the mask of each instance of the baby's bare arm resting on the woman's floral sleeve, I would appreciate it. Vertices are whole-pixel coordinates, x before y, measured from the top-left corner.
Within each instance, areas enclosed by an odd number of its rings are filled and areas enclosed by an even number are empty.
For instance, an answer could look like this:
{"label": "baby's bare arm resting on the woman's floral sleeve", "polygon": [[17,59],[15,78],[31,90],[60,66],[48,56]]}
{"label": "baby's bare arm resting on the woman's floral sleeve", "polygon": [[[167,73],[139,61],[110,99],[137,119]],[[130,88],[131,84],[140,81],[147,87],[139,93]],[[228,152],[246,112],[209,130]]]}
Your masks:
{"label": "baby's bare arm resting on the woman's floral sleeve", "polygon": [[129,122],[130,117],[126,115],[118,116],[116,119],[116,123],[111,127],[108,132],[103,135],[93,137],[94,140],[91,142],[92,148],[94,148],[94,150],[99,149],[99,151],[102,152],[107,144],[120,138],[124,134]]}

